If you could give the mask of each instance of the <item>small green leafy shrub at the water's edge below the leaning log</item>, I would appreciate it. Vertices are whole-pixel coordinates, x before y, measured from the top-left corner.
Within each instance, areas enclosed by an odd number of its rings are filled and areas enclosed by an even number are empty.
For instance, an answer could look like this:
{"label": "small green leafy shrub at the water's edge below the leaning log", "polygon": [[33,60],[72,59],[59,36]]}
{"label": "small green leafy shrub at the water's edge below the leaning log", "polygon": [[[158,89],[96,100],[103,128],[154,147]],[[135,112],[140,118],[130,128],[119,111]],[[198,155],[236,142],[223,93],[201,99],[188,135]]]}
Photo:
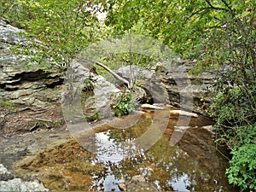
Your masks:
{"label": "small green leafy shrub at the water's edge below the leaning log", "polygon": [[136,108],[136,103],[132,102],[131,93],[123,93],[111,105],[113,113],[117,116],[129,114]]}

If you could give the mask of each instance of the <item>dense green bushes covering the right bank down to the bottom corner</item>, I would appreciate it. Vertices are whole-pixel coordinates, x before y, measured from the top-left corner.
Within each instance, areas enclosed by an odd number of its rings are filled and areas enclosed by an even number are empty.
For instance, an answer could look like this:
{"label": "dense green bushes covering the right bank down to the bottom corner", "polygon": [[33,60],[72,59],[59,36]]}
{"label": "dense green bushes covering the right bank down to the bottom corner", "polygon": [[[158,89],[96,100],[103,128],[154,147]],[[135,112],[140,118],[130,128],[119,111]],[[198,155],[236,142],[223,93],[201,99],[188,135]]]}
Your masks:
{"label": "dense green bushes covering the right bank down to the bottom corner", "polygon": [[215,125],[218,142],[224,142],[233,154],[227,170],[229,182],[241,190],[256,188],[256,84],[235,86],[218,92],[211,113],[217,117]]}

